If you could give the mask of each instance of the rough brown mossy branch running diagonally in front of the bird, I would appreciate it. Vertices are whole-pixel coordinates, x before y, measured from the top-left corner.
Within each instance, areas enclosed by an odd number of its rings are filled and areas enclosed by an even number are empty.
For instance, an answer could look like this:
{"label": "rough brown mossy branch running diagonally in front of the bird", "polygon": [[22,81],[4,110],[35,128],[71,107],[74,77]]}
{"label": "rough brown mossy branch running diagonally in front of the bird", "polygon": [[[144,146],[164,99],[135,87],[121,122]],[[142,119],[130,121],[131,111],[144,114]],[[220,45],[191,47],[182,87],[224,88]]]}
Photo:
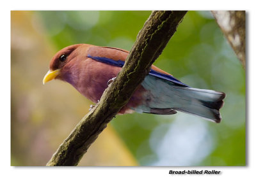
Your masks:
{"label": "rough brown mossy branch running diagonally in front of the bird", "polygon": [[89,146],[106,128],[108,122],[128,103],[185,14],[186,11],[152,11],[116,80],[104,91],[97,106],[76,125],[68,138],[52,155],[47,166],[76,166],[78,164]]}

